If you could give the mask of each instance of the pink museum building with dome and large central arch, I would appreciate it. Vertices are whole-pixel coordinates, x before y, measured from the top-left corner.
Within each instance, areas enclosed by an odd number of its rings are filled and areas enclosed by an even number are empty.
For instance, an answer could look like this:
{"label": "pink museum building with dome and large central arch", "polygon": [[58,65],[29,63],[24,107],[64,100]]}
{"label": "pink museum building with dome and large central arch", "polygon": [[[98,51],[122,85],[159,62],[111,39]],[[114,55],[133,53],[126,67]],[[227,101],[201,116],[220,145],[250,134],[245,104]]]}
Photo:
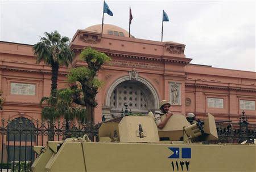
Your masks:
{"label": "pink museum building with dome and large central arch", "polygon": [[[216,120],[238,122],[244,110],[249,122],[256,124],[256,72],[191,64],[184,44],[129,37],[110,24],[104,24],[103,34],[101,25],[77,30],[70,45],[76,56],[69,68],[86,65],[79,54],[87,46],[112,58],[98,72],[105,85],[96,97],[96,122],[102,115],[121,115],[124,104],[133,113],[146,114],[166,99],[174,113],[192,112],[200,119],[211,113]],[[40,119],[40,99],[51,89],[51,67],[36,64],[32,45],[1,41],[0,68],[5,99],[0,117]],[[58,88],[68,87],[67,73],[68,68],[60,68]]]}

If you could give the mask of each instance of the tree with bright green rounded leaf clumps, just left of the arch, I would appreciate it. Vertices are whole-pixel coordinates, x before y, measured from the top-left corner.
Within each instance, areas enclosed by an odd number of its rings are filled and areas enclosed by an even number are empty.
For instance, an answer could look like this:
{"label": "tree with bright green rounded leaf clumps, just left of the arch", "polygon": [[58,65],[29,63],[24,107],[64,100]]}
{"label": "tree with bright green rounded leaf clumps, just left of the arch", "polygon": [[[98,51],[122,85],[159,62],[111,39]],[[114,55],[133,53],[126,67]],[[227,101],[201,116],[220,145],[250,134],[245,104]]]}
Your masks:
{"label": "tree with bright green rounded leaf clumps, just left of the arch", "polygon": [[102,86],[102,81],[97,79],[97,71],[100,70],[104,63],[108,63],[111,59],[108,55],[100,53],[92,48],[86,48],[80,54],[80,58],[87,63],[87,67],[73,68],[68,74],[68,81],[74,83],[79,81],[80,85],[75,89],[81,88],[82,96],[79,92],[73,96],[76,104],[86,106],[87,122],[94,122],[94,108],[97,106],[95,100],[98,89]]}

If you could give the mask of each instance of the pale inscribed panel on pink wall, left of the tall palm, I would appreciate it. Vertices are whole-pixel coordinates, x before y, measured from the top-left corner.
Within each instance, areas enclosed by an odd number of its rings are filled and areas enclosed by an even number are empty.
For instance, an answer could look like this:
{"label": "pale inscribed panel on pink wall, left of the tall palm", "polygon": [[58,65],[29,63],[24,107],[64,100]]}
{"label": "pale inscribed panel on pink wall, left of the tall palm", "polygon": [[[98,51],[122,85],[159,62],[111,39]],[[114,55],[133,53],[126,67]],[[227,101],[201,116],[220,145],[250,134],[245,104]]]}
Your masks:
{"label": "pale inscribed panel on pink wall, left of the tall palm", "polygon": [[35,84],[11,83],[11,94],[35,96]]}

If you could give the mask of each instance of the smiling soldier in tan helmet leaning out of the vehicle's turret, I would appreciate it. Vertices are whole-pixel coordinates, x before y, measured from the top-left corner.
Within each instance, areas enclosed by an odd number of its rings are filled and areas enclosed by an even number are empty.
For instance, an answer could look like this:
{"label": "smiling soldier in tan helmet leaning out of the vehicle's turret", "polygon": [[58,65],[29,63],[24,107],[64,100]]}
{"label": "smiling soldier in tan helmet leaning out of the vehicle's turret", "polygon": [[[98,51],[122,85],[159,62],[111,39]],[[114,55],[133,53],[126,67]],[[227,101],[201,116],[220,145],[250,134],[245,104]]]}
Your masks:
{"label": "smiling soldier in tan helmet leaning out of the vehicle's turret", "polygon": [[170,107],[171,107],[171,104],[167,100],[160,101],[159,110],[155,111],[155,114],[154,114],[155,123],[159,129],[162,129],[164,126],[166,126],[166,123],[173,115],[170,111]]}

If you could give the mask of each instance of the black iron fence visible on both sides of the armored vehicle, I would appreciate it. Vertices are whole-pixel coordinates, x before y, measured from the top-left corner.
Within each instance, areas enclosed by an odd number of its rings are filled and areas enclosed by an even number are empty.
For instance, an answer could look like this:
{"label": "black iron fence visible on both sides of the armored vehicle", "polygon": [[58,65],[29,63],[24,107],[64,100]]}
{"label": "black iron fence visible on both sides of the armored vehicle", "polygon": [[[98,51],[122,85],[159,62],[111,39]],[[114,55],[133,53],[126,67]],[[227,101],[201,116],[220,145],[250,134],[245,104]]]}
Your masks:
{"label": "black iron fence visible on both sides of the armored vehicle", "polygon": [[[109,122],[119,122],[122,117]],[[232,127],[217,127],[218,140],[211,143],[241,143],[253,141],[256,130],[249,127],[245,113],[238,123]],[[34,145],[46,145],[48,140],[61,141],[69,137],[88,135],[91,140],[98,138],[98,124],[81,121],[49,120],[39,121],[27,118],[1,119],[0,124],[0,158],[2,171],[31,171],[31,165],[36,158],[32,151]],[[250,128],[250,129],[249,129]]]}

